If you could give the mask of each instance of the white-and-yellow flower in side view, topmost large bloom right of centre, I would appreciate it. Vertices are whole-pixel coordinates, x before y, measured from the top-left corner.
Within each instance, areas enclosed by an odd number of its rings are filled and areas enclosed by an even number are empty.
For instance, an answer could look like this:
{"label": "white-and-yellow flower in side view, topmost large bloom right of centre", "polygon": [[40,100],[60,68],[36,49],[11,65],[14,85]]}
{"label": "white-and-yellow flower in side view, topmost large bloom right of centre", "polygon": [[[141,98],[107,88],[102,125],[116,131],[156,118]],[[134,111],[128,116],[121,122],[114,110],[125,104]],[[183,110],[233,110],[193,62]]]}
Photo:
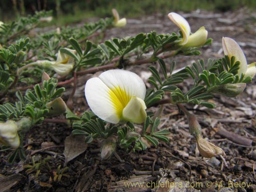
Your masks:
{"label": "white-and-yellow flower in side view, topmost large bloom right of centre", "polygon": [[204,27],[201,27],[195,33],[191,34],[190,26],[184,17],[174,12],[169,13],[168,17],[182,32],[183,39],[181,40],[180,45],[183,47],[199,47],[205,44],[208,32]]}

